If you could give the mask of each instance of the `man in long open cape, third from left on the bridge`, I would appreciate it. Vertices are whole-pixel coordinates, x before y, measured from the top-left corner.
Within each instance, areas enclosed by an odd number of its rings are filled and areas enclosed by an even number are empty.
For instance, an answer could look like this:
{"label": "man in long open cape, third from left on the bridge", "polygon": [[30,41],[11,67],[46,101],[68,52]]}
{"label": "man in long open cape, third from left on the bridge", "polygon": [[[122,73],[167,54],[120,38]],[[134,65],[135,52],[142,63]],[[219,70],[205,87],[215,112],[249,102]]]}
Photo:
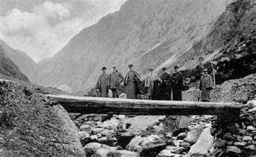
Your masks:
{"label": "man in long open cape, third from left on the bridge", "polygon": [[126,88],[126,97],[128,99],[136,99],[136,95],[140,92],[141,79],[139,73],[133,70],[133,65],[129,64],[130,71],[126,74],[124,85]]}

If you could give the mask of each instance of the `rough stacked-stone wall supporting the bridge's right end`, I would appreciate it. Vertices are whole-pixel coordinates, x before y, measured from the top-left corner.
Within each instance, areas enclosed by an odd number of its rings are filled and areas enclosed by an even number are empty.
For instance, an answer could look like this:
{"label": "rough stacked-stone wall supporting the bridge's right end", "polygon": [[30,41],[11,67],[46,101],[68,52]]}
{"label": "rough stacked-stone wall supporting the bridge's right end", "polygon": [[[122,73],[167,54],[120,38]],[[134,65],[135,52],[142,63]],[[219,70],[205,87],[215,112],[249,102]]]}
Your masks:
{"label": "rough stacked-stone wall supporting the bridge's right end", "polygon": [[210,155],[256,155],[256,100],[248,101],[239,113],[219,116],[214,120],[214,143]]}

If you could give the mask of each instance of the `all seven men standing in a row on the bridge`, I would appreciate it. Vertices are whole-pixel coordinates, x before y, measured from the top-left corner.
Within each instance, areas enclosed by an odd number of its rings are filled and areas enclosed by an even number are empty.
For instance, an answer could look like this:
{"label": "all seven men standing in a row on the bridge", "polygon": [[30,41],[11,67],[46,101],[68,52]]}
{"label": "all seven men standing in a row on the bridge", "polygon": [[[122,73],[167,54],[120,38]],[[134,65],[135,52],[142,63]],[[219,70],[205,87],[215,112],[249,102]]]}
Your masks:
{"label": "all seven men standing in a row on the bridge", "polygon": [[[106,73],[106,67],[102,68],[103,73],[99,76],[96,89],[100,91],[101,97],[109,96],[109,89],[112,91],[113,98],[118,98],[120,94],[120,83],[124,81],[126,86],[126,97],[128,99],[136,99],[137,95],[145,94],[148,99],[152,100],[182,100],[181,91],[184,89],[183,74],[179,71],[178,66],[174,66],[174,73],[167,73],[167,68],[163,67],[163,73],[157,77],[153,73],[154,68],[150,67],[149,74],[145,79],[144,88],[142,79],[137,71],[133,70],[133,65],[129,64],[130,71],[127,72],[125,78],[117,67],[113,66],[110,74]],[[214,88],[212,77],[208,74],[208,70],[204,69],[204,74],[199,81],[199,89],[201,90],[201,101],[210,101],[210,91]],[[189,82],[186,80],[185,86]],[[185,87],[186,88],[186,87]]]}

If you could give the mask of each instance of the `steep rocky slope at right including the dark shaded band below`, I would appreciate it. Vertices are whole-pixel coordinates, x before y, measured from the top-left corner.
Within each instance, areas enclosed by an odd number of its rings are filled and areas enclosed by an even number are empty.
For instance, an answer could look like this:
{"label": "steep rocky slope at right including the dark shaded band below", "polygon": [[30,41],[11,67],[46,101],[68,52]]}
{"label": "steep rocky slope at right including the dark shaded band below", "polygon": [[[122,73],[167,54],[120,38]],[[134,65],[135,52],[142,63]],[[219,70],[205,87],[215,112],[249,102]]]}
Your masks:
{"label": "steep rocky slope at right including the dark shaded band below", "polygon": [[[216,83],[242,78],[256,72],[256,1],[238,1],[229,5],[214,24],[211,32],[184,53],[181,58],[204,58],[204,67],[211,70],[212,59],[217,70]],[[198,62],[179,59],[183,69]],[[199,78],[203,67],[185,70],[185,75]]]}

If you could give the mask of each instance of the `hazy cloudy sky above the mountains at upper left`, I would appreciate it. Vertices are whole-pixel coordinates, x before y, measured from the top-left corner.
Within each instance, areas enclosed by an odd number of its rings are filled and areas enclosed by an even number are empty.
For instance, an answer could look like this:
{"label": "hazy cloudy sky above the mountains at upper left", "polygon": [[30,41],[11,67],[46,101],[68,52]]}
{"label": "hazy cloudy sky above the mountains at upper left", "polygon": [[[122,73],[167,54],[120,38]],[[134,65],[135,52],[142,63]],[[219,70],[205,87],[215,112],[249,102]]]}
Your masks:
{"label": "hazy cloudy sky above the mountains at upper left", "polygon": [[0,0],[0,39],[36,62],[53,57],[80,30],[126,0]]}

